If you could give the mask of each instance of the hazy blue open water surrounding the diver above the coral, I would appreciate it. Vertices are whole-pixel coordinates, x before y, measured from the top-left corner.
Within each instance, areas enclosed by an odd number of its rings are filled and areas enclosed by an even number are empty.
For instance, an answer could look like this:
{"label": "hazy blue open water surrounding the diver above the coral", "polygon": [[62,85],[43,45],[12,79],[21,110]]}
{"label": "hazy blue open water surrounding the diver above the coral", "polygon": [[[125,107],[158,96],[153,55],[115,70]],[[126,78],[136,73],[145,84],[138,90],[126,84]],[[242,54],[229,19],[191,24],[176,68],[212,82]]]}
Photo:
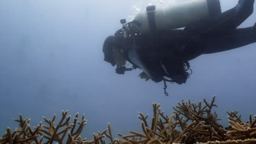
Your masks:
{"label": "hazy blue open water surrounding the diver above the coral", "polygon": [[[177,0],[178,1],[178,0]],[[120,19],[132,17],[148,3],[174,1],[120,0],[0,0],[0,135],[14,130],[13,118],[31,118],[31,125],[69,115],[85,114],[82,137],[103,131],[141,131],[138,112],[152,116],[152,103],[170,114],[182,99],[211,100],[226,127],[226,110],[244,118],[256,112],[256,43],[202,55],[190,61],[193,75],[184,85],[139,79],[141,70],[115,74],[103,61],[102,45],[121,28]],[[180,1],[179,1],[180,2]],[[220,0],[222,11],[237,1]],[[254,7],[255,9],[255,7]],[[141,9],[143,10],[143,9]],[[240,27],[253,26],[254,12]],[[235,43],[235,41],[234,41]],[[114,135],[114,137],[118,137]]]}

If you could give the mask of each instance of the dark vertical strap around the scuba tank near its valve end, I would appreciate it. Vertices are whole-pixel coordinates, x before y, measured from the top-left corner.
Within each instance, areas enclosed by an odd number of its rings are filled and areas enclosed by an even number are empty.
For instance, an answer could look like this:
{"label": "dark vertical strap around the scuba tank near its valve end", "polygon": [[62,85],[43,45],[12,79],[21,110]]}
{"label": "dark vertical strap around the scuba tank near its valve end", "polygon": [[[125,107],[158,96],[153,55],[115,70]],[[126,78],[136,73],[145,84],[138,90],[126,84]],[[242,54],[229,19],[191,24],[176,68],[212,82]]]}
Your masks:
{"label": "dark vertical strap around the scuba tank near its valve end", "polygon": [[155,5],[150,5],[147,7],[147,14],[148,14],[148,24],[150,31],[152,33],[156,32],[156,25],[155,25]]}

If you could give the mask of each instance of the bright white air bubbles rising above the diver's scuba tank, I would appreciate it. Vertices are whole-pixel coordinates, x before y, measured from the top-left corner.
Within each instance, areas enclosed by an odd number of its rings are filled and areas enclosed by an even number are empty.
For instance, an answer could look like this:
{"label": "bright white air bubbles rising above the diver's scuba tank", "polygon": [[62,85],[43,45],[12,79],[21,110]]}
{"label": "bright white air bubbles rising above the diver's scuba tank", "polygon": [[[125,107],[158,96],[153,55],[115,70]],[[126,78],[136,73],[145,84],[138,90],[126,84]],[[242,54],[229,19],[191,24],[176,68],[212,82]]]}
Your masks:
{"label": "bright white air bubbles rising above the diver's scuba tank", "polygon": [[169,4],[175,4],[175,0],[141,0],[137,1],[135,5],[132,5],[132,14],[127,16],[127,21],[132,21],[134,17],[141,11],[146,10],[148,5],[166,6]]}

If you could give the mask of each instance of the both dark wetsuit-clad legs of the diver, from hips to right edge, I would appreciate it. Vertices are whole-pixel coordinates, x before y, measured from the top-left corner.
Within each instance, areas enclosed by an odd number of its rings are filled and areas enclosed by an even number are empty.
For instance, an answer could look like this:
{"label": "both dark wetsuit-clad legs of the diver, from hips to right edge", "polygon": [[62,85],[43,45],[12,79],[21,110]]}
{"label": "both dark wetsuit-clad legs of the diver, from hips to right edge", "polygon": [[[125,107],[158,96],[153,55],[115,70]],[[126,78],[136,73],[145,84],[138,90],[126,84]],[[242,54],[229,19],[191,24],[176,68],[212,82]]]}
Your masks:
{"label": "both dark wetsuit-clad legs of the diver, from hips to right edge", "polygon": [[[217,17],[201,20],[184,29],[194,37],[182,50],[189,60],[207,53],[222,52],[256,42],[253,27],[237,28],[253,13],[254,0],[241,0]],[[195,35],[195,36],[193,36]],[[234,43],[235,42],[235,43]]]}

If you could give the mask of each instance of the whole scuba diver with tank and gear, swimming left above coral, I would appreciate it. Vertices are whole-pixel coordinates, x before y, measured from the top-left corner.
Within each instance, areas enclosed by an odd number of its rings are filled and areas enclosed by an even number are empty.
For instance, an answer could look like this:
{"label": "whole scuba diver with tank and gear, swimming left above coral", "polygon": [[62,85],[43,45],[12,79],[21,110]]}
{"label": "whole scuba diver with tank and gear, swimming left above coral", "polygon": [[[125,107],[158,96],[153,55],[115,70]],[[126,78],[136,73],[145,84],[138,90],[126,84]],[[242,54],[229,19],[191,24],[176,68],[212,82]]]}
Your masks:
{"label": "whole scuba diver with tank and gear, swimming left above coral", "polygon": [[[189,61],[202,54],[228,51],[256,42],[256,24],[237,28],[253,13],[254,0],[240,0],[222,13],[219,0],[194,0],[166,8],[150,5],[106,38],[104,61],[116,73],[142,69],[142,79],[185,83]],[[182,29],[183,28],[183,29]],[[129,62],[132,68],[126,68]]]}

